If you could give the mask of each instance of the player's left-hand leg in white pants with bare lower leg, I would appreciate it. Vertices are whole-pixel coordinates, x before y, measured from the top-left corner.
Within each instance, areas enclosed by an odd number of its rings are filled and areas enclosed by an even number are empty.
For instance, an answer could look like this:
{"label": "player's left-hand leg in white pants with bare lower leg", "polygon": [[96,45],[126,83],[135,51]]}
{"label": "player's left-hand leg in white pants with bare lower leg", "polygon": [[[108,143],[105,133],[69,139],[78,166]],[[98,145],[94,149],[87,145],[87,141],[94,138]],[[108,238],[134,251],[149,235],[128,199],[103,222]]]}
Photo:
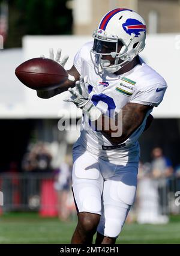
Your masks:
{"label": "player's left-hand leg in white pants with bare lower leg", "polygon": [[73,195],[78,223],[71,243],[92,243],[101,216],[103,177],[98,159],[82,147],[73,150]]}

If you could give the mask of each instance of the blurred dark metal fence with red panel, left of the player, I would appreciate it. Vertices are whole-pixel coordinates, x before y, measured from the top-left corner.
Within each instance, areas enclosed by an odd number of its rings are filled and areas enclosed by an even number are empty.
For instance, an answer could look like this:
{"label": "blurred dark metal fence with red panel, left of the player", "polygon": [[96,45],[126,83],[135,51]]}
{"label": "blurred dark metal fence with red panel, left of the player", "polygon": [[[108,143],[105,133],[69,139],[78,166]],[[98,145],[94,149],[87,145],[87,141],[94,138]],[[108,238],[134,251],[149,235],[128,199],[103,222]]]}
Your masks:
{"label": "blurred dark metal fence with red panel, left of the player", "polygon": [[[58,194],[52,173],[16,173],[0,175],[0,191],[4,195],[1,210],[37,211],[42,216],[58,215]],[[73,195],[67,191],[67,207],[74,211]]]}

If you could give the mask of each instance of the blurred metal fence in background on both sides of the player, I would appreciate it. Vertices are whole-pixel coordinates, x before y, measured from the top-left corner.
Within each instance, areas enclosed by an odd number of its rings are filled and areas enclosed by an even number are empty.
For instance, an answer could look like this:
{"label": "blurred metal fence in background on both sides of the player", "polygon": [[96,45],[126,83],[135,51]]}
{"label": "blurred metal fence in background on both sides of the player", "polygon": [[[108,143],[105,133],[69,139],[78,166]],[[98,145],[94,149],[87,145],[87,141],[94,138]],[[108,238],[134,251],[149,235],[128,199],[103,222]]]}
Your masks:
{"label": "blurred metal fence in background on both sides of the player", "polygon": [[[1,210],[3,212],[37,211],[42,215],[43,213],[57,215],[58,192],[54,184],[55,177],[52,173],[1,174],[0,191],[4,195],[4,206]],[[143,204],[154,207],[156,202],[162,215],[180,214],[178,195],[180,196],[180,177],[158,180],[145,178],[139,180],[135,209],[139,209]],[[71,191],[67,204],[74,210]]]}

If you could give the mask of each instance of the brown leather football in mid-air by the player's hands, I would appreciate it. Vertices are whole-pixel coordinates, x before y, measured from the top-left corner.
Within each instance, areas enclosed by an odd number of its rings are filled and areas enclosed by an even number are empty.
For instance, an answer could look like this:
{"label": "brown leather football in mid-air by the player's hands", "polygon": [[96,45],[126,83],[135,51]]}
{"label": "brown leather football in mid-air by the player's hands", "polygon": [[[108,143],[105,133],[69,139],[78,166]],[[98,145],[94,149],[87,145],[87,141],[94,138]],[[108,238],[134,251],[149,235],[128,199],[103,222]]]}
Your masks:
{"label": "brown leather football in mid-air by the player's hands", "polygon": [[15,70],[17,78],[34,90],[52,90],[68,79],[65,69],[48,58],[33,58],[23,62]]}

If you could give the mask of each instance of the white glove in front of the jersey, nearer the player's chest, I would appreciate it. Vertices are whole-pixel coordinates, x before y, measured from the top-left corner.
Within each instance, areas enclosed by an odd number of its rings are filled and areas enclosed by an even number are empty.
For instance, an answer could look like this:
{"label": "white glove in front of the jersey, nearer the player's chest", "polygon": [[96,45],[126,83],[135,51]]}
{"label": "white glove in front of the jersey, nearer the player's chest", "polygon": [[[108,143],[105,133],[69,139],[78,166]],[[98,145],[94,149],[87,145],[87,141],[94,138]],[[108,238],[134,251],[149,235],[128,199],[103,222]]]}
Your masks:
{"label": "white glove in front of the jersey, nearer the player's chest", "polygon": [[64,99],[64,102],[73,102],[77,108],[81,108],[86,112],[91,121],[95,121],[100,117],[101,111],[91,102],[88,87],[82,76],[80,76],[80,80],[76,82],[76,87],[73,89],[69,88],[68,91],[71,93],[71,97]]}

